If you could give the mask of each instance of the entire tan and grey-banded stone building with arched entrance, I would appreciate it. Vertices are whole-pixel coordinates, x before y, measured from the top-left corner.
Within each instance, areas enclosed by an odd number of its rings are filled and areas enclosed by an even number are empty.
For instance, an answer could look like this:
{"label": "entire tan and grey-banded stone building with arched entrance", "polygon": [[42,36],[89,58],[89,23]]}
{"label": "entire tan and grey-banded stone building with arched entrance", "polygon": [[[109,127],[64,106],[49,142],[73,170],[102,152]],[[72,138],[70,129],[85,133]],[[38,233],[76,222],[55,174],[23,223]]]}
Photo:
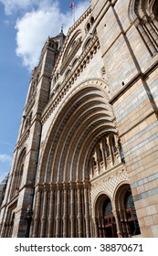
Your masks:
{"label": "entire tan and grey-banded stone building with arched entrance", "polygon": [[32,74],[1,237],[158,237],[158,3],[90,2]]}

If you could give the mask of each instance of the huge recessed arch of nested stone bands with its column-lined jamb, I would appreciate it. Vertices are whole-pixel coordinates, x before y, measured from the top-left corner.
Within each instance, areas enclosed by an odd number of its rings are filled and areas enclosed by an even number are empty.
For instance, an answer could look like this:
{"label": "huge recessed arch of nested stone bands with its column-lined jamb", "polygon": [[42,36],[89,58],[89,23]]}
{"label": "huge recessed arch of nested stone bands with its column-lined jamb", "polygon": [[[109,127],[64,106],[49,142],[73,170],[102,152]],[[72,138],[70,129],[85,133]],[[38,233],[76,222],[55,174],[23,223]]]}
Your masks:
{"label": "huge recessed arch of nested stone bands with its column-lined jamb", "polygon": [[[116,134],[113,112],[102,83],[96,80],[80,85],[52,120],[40,158],[33,237],[92,237],[91,154],[101,138]],[[117,161],[114,138],[110,141],[115,158],[111,154],[105,157],[108,168]],[[103,150],[99,152],[103,162]]]}

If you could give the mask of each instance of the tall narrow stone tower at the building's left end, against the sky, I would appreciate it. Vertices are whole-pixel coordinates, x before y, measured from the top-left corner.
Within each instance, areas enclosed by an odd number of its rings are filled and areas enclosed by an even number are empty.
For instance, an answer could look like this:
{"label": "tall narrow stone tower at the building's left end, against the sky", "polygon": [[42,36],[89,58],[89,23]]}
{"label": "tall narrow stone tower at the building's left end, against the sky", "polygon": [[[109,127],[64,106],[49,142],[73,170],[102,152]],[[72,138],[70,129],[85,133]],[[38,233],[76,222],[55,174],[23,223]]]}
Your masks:
{"label": "tall narrow stone tower at the building's left end, against the sky", "polygon": [[2,237],[10,236],[15,215],[18,219],[14,226],[15,236],[24,237],[26,232],[26,209],[32,208],[37,176],[42,129],[41,113],[49,101],[51,72],[64,40],[65,35],[62,30],[57,37],[48,37],[41,50],[39,63],[32,72],[14,153],[14,163],[5,194],[6,200],[14,203],[7,209],[5,232],[1,229]]}

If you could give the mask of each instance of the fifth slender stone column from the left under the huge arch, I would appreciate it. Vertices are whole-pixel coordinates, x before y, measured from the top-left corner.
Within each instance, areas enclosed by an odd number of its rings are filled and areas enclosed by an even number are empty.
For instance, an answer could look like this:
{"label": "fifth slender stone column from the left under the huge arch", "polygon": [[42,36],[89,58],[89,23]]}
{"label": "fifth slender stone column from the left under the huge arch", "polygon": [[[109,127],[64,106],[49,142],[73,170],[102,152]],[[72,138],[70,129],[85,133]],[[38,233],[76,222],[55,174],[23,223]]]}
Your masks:
{"label": "fifth slender stone column from the left under the huge arch", "polygon": [[68,188],[64,187],[63,238],[68,238]]}

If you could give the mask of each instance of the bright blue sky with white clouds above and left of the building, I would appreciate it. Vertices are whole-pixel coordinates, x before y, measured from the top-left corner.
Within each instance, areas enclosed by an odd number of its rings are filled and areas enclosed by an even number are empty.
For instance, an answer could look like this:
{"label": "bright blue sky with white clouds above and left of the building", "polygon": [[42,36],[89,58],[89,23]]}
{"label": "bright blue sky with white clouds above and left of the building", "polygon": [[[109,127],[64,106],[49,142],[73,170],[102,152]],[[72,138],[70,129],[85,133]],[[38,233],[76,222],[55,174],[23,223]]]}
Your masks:
{"label": "bright blue sky with white clouds above and left of the building", "polygon": [[86,0],[0,0],[0,181],[9,172],[31,71],[47,37],[67,34]]}

